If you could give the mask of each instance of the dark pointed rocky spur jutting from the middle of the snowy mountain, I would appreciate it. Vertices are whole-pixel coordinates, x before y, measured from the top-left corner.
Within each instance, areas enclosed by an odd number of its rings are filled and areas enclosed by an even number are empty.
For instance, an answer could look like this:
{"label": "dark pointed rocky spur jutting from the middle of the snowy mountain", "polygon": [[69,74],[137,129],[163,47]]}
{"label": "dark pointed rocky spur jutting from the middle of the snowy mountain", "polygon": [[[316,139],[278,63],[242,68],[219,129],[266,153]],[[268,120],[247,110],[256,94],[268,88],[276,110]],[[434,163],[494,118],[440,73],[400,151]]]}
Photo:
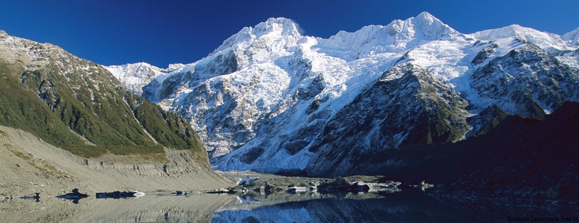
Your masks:
{"label": "dark pointed rocky spur jutting from the middle of the snowy mountain", "polygon": [[332,171],[332,166],[352,168],[351,159],[367,151],[458,141],[470,130],[466,105],[426,69],[393,67],[326,123],[309,149],[320,155],[308,173],[339,175],[342,170]]}

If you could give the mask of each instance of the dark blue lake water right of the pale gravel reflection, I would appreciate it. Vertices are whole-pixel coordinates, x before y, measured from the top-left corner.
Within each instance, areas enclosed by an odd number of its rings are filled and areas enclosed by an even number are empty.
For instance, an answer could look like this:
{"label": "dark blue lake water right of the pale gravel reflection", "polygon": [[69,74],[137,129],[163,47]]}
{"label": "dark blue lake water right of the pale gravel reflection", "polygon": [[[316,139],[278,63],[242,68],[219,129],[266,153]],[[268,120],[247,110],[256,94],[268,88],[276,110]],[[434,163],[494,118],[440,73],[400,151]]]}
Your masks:
{"label": "dark blue lake water right of the pale gravel reflection", "polygon": [[450,200],[426,196],[421,188],[404,189],[400,193],[303,193],[298,195],[305,198],[303,200],[271,204],[272,200],[283,200],[276,196],[283,195],[239,197],[239,203],[224,205],[211,221],[509,222],[509,217],[579,217],[576,205]]}

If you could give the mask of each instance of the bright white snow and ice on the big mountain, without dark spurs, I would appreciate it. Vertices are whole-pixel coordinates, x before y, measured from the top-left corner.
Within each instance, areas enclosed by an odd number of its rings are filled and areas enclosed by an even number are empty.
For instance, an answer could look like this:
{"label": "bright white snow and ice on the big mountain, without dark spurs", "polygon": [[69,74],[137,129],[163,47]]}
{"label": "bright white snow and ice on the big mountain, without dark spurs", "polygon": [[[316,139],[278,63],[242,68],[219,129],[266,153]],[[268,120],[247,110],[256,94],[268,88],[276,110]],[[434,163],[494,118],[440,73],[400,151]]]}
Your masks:
{"label": "bright white snow and ice on the big mountain, without dark spurs", "polygon": [[[155,100],[163,108],[188,118],[210,152],[215,168],[301,171],[313,165],[318,152],[310,151],[312,144],[305,142],[313,142],[323,133],[328,120],[377,81],[401,78],[402,74],[381,79],[392,67],[412,64],[428,72],[429,79],[416,83],[435,84],[438,90],[431,96],[442,98],[440,101],[448,106],[448,98],[462,103],[457,99],[460,96],[468,99],[469,111],[475,114],[494,103],[516,113],[519,108],[513,101],[500,101],[498,96],[480,93],[479,88],[490,83],[485,81],[497,81],[499,77],[475,80],[473,75],[480,75],[479,70],[497,58],[529,45],[538,46],[534,49],[537,52],[564,52],[565,55],[557,57],[559,62],[578,67],[579,56],[573,55],[577,47],[570,44],[576,44],[579,31],[573,32],[559,37],[509,25],[465,35],[423,12],[404,21],[367,25],[353,33],[340,31],[324,39],[301,35],[299,26],[290,19],[270,18],[243,28],[193,64],[174,64],[168,69],[152,66],[144,69],[147,67],[144,64],[141,69],[129,69],[126,65],[109,70],[124,79],[125,84],[132,84],[132,88],[138,88],[139,83],[142,88],[145,79],[157,81],[158,85],[148,86],[158,92],[154,95],[160,98]],[[480,55],[484,50],[487,51]],[[509,72],[489,74],[506,76],[504,80],[511,82],[518,78]],[[443,88],[451,92],[440,91]],[[406,102],[399,102],[402,103]],[[360,106],[364,110],[374,109]],[[426,107],[435,108],[429,106]],[[547,103],[540,106],[551,110]],[[422,107],[401,110],[408,113],[419,108]],[[460,115],[472,114],[464,111]],[[398,147],[407,137],[413,137],[408,131],[377,137],[377,123],[382,121],[369,123],[373,132],[360,140]]]}

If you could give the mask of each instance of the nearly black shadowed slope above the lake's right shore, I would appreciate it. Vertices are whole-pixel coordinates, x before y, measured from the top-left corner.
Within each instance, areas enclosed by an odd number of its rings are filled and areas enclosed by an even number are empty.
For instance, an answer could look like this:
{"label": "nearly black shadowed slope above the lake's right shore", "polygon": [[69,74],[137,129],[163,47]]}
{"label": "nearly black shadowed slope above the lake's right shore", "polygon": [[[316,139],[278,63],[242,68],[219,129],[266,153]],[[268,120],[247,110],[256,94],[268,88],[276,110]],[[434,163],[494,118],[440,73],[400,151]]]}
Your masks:
{"label": "nearly black shadowed slope above the lake's right shore", "polygon": [[366,154],[352,173],[443,183],[445,195],[524,200],[579,198],[579,103],[544,120],[508,115],[486,135]]}

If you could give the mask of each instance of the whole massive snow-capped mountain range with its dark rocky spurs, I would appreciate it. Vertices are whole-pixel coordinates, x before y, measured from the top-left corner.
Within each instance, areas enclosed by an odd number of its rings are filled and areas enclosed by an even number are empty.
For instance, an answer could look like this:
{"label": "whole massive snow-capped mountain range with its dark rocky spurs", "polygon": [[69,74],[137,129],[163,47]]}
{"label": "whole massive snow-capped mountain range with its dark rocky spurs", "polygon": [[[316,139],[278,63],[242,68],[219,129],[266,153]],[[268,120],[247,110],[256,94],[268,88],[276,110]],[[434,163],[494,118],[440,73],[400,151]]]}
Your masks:
{"label": "whole massive snow-capped mountain range with its dark rocky spurs", "polygon": [[576,31],[462,34],[423,12],[323,39],[270,18],[193,64],[108,69],[185,116],[217,169],[339,175],[362,151],[475,135],[494,105],[541,118],[579,101]]}

